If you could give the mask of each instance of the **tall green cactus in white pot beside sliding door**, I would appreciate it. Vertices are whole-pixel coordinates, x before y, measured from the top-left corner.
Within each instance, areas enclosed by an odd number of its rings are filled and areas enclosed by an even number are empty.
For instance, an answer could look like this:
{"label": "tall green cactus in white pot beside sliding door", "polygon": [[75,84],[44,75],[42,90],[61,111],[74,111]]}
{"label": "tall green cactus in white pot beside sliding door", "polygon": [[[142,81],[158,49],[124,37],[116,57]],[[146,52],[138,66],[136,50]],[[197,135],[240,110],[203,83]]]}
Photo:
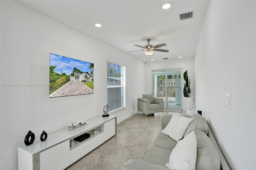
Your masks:
{"label": "tall green cactus in white pot beside sliding door", "polygon": [[190,108],[191,102],[193,101],[193,97],[190,97],[190,79],[188,79],[188,70],[186,70],[183,73],[183,79],[184,79],[184,89],[183,89],[183,95],[184,95],[184,106],[183,110],[187,111],[188,108]]}

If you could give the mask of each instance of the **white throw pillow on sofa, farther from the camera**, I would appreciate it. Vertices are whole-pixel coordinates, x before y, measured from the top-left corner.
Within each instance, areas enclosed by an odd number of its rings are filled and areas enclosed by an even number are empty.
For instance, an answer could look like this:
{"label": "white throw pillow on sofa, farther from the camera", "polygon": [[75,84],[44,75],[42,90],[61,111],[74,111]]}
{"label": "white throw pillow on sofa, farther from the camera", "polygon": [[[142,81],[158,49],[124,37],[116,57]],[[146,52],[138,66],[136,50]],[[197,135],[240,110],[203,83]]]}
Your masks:
{"label": "white throw pillow on sofa, farther from the camera", "polygon": [[172,115],[170,122],[161,132],[178,142],[183,138],[188,125],[192,120],[192,118]]}

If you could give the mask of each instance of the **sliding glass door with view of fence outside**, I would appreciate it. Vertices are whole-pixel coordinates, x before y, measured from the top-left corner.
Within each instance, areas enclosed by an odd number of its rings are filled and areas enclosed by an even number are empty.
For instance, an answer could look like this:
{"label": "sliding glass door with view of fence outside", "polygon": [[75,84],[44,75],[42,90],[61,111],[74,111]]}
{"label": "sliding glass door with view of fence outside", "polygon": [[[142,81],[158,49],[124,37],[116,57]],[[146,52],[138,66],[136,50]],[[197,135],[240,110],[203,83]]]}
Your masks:
{"label": "sliding glass door with view of fence outside", "polygon": [[152,94],[164,99],[166,110],[182,110],[180,73],[181,69],[152,71]]}

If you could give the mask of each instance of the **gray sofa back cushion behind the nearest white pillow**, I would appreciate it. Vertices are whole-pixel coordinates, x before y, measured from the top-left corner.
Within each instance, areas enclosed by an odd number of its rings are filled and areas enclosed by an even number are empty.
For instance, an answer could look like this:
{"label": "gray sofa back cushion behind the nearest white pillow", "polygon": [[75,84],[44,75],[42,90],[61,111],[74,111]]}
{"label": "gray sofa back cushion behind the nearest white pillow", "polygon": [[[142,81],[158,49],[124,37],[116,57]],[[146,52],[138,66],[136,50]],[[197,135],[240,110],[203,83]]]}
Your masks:
{"label": "gray sofa back cushion behind the nearest white pillow", "polygon": [[196,170],[219,170],[220,156],[212,140],[199,129],[194,130],[197,140]]}

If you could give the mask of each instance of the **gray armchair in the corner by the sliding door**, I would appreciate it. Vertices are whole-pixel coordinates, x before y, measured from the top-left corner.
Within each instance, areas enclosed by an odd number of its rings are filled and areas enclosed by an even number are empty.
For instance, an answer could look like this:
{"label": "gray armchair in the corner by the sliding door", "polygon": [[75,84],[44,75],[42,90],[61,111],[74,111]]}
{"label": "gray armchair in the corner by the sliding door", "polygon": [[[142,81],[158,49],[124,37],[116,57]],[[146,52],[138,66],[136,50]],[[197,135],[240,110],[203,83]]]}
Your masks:
{"label": "gray armchair in the corner by the sliding door", "polygon": [[138,98],[138,112],[147,115],[150,113],[164,112],[164,99],[154,97],[152,94],[144,94],[142,98]]}

